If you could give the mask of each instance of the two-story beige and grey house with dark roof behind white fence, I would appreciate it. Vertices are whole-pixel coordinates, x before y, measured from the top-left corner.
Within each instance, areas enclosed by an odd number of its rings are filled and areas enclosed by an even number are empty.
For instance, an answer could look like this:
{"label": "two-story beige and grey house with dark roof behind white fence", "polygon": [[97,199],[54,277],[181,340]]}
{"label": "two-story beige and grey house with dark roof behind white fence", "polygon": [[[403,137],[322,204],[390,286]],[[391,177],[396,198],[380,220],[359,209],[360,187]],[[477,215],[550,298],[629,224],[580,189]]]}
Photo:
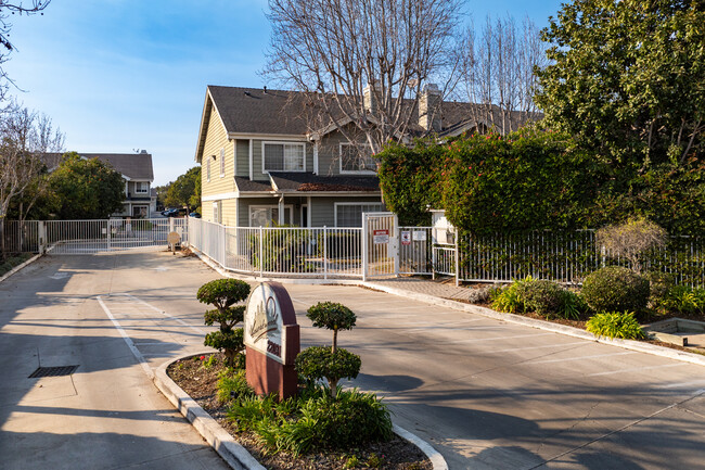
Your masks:
{"label": "two-story beige and grey house with dark roof behind white fence", "polygon": [[[430,87],[410,134],[489,127],[470,117],[472,106],[441,102]],[[195,154],[205,220],[359,227],[363,212],[384,211],[376,163],[359,153],[366,145],[351,145],[335,126],[311,131],[310,110],[302,92],[207,87]]]}

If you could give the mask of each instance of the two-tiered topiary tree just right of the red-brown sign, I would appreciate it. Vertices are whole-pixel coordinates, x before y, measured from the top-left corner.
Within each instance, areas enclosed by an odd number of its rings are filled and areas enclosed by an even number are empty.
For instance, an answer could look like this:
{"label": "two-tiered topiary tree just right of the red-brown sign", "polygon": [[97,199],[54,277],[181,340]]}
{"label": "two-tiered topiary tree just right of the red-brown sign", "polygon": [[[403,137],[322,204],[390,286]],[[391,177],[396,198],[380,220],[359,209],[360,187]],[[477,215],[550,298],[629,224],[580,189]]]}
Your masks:
{"label": "two-tiered topiary tree just right of the red-brown sign", "polygon": [[357,317],[345,305],[320,302],[307,310],[306,316],[318,328],[333,330],[333,345],[313,346],[296,357],[296,370],[308,380],[328,380],[331,397],[335,398],[338,380],[355,379],[360,372],[360,356],[337,347],[338,330],[350,330]]}

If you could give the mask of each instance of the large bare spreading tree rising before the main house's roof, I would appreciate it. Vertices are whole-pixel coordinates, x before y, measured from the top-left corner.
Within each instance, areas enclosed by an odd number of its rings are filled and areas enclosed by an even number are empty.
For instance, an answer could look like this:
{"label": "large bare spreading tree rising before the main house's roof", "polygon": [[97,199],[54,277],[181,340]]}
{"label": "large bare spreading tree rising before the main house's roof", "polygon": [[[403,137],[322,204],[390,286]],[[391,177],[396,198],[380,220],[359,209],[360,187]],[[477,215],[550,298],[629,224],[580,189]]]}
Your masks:
{"label": "large bare spreading tree rising before the main house's roof", "polygon": [[376,153],[414,128],[425,85],[441,84],[437,96],[452,88],[460,8],[460,0],[270,0],[264,74],[306,92],[312,132],[333,126]]}

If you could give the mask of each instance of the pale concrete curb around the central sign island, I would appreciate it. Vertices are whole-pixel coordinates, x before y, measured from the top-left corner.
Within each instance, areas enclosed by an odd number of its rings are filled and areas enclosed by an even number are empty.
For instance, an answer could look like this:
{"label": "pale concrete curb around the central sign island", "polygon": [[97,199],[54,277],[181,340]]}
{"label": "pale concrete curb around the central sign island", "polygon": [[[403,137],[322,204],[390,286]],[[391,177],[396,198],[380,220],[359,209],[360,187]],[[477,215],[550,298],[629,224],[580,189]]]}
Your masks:
{"label": "pale concrete curb around the central sign island", "polygon": [[[207,354],[209,353],[211,351],[208,351]],[[228,431],[222,429],[218,421],[213,419],[205,409],[167,376],[166,369],[171,364],[197,355],[193,353],[184,354],[162,364],[154,371],[154,384],[231,468],[235,470],[267,470]],[[419,447],[428,457],[434,470],[448,470],[448,463],[431,444],[396,424],[393,424],[393,430],[397,435]]]}

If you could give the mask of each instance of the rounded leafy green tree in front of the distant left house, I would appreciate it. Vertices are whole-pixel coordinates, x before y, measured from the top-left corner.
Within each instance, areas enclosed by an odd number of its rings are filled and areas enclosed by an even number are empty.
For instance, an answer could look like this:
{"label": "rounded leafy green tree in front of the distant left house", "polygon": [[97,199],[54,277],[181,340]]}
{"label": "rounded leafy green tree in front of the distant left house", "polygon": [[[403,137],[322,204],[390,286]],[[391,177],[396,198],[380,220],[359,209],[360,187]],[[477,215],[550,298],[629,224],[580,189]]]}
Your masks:
{"label": "rounded leafy green tree in front of the distant left house", "polygon": [[60,219],[106,218],[123,209],[125,181],[123,176],[98,158],[81,158],[66,153],[49,176],[50,191],[59,201]]}

